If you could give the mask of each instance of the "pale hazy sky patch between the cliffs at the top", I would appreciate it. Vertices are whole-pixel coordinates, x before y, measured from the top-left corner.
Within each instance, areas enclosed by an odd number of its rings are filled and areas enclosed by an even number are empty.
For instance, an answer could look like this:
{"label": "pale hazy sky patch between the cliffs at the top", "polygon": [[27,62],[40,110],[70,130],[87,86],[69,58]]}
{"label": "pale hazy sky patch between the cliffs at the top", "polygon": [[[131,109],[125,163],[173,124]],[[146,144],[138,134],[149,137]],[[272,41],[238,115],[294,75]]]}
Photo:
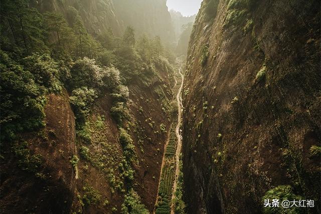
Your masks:
{"label": "pale hazy sky patch between the cliffs at the top", "polygon": [[185,17],[197,14],[202,0],[167,0],[169,10],[179,11]]}

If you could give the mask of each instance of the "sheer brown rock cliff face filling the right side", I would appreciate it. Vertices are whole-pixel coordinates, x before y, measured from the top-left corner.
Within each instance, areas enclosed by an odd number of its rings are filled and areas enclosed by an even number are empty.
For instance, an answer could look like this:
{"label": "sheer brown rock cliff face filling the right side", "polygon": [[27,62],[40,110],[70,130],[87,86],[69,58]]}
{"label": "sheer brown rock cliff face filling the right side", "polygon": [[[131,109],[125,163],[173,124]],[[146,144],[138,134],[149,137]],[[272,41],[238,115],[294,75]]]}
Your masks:
{"label": "sheer brown rock cliff face filling the right side", "polygon": [[279,185],[320,211],[319,29],[319,1],[203,1],[183,90],[190,213],[260,213]]}

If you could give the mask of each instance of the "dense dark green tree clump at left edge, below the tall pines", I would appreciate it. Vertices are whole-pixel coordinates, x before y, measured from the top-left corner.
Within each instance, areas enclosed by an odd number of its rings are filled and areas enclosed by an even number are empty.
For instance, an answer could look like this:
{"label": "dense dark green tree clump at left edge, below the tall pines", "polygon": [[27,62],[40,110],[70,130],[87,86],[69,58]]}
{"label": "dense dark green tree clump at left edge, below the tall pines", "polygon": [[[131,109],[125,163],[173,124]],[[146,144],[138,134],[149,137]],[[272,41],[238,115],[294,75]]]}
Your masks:
{"label": "dense dark green tree clump at left edge, below the tall pines", "polygon": [[45,88],[33,73],[0,51],[1,139],[44,126]]}

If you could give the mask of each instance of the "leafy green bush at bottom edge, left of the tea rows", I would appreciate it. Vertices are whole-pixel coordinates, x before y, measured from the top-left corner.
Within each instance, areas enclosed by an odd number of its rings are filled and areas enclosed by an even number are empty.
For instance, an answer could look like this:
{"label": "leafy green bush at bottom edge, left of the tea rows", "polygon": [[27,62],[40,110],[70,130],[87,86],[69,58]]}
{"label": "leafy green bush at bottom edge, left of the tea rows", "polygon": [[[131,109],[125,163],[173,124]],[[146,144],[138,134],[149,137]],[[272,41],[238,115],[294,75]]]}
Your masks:
{"label": "leafy green bush at bottom edge, left of the tea rows", "polygon": [[149,211],[145,205],[140,202],[140,197],[132,188],[125,195],[123,204],[121,205],[121,213],[123,214],[148,214]]}

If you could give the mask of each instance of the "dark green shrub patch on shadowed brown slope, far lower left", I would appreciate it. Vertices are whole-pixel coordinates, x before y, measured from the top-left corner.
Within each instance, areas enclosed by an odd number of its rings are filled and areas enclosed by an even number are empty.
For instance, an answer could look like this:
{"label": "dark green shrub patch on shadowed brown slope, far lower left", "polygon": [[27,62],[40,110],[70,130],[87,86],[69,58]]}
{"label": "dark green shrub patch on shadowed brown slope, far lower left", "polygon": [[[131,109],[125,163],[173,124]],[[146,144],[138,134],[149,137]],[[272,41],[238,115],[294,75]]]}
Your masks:
{"label": "dark green shrub patch on shadowed brown slope, far lower left", "polygon": [[37,172],[42,164],[42,156],[40,154],[31,154],[28,143],[17,142],[13,144],[13,151],[18,158],[18,166],[28,172]]}

